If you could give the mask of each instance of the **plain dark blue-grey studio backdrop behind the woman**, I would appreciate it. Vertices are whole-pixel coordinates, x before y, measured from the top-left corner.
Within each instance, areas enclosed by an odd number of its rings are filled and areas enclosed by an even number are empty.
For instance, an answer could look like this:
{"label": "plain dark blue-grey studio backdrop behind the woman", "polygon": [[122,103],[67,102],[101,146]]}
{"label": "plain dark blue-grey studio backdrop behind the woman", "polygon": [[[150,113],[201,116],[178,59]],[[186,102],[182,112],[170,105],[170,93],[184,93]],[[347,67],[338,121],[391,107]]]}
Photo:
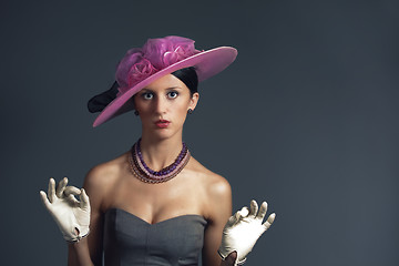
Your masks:
{"label": "plain dark blue-grey studio backdrop behind the woman", "polygon": [[147,38],[233,45],[200,86],[184,139],[225,176],[234,211],[277,218],[247,265],[398,265],[398,1],[1,1],[1,265],[65,265],[39,200],[81,186],[140,122],[96,129],[86,101]]}

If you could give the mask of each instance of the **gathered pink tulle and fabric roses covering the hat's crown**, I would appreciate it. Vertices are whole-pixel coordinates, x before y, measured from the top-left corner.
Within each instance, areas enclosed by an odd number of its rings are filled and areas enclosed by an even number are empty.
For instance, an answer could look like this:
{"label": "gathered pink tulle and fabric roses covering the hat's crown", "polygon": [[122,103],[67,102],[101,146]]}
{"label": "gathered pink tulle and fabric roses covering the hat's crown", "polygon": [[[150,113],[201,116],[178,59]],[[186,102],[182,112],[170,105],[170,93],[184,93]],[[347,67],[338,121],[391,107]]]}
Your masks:
{"label": "gathered pink tulle and fabric roses covering the hat's crown", "polygon": [[183,37],[149,39],[143,48],[127,51],[116,68],[119,94],[145,80],[150,75],[190,58],[201,51],[194,48],[194,41]]}

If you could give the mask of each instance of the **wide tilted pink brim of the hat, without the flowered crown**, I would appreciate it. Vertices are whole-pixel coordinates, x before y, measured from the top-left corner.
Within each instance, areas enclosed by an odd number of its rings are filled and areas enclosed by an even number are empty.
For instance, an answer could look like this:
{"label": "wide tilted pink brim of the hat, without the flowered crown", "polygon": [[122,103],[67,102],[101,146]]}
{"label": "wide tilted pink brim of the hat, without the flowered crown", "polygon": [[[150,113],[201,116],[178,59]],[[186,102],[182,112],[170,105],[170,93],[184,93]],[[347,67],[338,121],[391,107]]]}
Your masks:
{"label": "wide tilted pink brim of the hat, without the flowered crown", "polygon": [[139,82],[123,94],[116,96],[105,109],[99,114],[93,123],[93,127],[122,114],[133,110],[133,102],[129,101],[135,93],[151,84],[153,81],[170,74],[176,70],[194,66],[198,75],[198,81],[204,81],[212,75],[226,69],[237,57],[237,50],[231,47],[219,47],[208,51],[197,53],[186,58],[177,63],[150,75]]}

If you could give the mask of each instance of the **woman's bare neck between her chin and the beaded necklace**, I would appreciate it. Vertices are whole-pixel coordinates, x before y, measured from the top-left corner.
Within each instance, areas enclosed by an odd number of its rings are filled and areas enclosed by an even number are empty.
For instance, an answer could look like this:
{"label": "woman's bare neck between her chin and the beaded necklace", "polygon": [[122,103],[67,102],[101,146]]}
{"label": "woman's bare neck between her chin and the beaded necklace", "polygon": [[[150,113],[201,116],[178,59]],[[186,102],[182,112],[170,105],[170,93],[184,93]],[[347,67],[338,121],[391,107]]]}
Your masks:
{"label": "woman's bare neck between her chin and the beaded necklace", "polygon": [[145,164],[154,171],[171,165],[183,149],[181,135],[163,140],[153,140],[143,135],[140,146]]}

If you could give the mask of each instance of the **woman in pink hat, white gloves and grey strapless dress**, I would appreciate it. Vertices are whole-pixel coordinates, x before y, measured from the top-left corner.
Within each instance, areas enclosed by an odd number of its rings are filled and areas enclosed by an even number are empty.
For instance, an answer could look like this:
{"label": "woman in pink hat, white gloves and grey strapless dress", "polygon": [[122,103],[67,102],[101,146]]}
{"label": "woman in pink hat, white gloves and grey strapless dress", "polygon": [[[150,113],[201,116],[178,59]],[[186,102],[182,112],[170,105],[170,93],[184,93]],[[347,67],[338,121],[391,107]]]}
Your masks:
{"label": "woman in pink hat, white gloves and grey strapless dress", "polygon": [[102,111],[94,126],[134,110],[142,137],[131,151],[92,168],[84,190],[66,186],[66,178],[55,190],[51,178],[50,201],[41,192],[70,242],[69,265],[101,265],[103,253],[105,265],[197,265],[201,250],[204,265],[245,260],[275,215],[262,224],[267,205],[257,212],[253,201],[250,209],[231,217],[228,182],[182,142],[186,115],[198,102],[198,81],[227,68],[236,54],[227,47],[198,51],[181,37],[150,39],[127,51],[114,86],[93,98],[89,109]]}

